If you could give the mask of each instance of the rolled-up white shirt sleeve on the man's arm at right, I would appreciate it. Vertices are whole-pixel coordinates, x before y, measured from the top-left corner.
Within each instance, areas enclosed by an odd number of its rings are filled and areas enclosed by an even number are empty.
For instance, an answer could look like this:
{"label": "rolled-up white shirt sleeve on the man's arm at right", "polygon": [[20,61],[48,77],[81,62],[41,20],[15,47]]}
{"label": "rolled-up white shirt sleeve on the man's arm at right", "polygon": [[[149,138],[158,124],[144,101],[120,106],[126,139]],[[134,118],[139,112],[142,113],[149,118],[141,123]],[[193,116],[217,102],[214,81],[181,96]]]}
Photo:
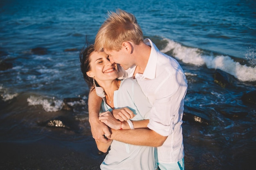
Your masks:
{"label": "rolled-up white shirt sleeve on the man's arm at right", "polygon": [[168,136],[173,133],[176,125],[182,124],[186,90],[184,73],[171,74],[159,83],[155,91],[155,102],[150,110],[149,129]]}

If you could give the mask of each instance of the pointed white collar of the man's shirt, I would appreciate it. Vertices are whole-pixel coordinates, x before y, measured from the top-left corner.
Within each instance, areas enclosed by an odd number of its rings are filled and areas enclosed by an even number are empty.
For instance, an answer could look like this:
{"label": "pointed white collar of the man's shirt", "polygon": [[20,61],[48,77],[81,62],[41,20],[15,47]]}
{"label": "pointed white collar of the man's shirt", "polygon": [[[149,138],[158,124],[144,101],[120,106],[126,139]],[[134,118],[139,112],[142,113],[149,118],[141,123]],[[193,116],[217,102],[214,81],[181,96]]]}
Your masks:
{"label": "pointed white collar of the man's shirt", "polygon": [[158,49],[155,44],[148,38],[144,39],[144,43],[151,46],[150,56],[148,63],[142,75],[143,78],[153,79],[155,78],[155,72],[157,68]]}

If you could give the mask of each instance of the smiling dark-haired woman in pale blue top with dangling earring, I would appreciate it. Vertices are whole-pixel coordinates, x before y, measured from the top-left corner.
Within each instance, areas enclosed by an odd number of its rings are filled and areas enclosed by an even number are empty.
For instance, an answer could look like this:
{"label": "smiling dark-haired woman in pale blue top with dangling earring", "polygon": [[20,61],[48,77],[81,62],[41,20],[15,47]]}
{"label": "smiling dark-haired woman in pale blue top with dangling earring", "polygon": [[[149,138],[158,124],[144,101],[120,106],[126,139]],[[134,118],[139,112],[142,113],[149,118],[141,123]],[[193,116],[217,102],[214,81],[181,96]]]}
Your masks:
{"label": "smiling dark-haired woman in pale blue top with dangling earring", "polygon": [[[133,129],[144,127],[145,123],[139,121],[148,119],[150,103],[146,100],[137,81],[131,78],[117,79],[118,68],[116,63],[110,63],[105,52],[95,52],[94,46],[90,45],[80,53],[81,71],[85,82],[89,87],[95,88],[98,96],[102,97],[101,114],[99,119],[108,119],[107,124],[112,129]],[[135,116],[130,120],[121,122],[116,120],[110,113],[112,109],[128,107]],[[104,121],[106,122],[106,121]],[[111,141],[108,144],[97,142],[97,147],[108,155],[101,163],[102,170],[155,170],[155,148],[149,146],[135,146],[123,142]]]}

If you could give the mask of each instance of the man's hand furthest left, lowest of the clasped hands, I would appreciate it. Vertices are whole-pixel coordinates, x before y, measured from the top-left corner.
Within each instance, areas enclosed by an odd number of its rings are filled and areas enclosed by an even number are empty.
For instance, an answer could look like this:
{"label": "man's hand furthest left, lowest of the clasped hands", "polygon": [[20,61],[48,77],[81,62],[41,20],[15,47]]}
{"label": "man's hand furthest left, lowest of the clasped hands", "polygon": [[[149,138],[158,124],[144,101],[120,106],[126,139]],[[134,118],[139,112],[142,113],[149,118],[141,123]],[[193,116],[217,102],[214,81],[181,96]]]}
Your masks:
{"label": "man's hand furthest left, lowest of the clasped hands", "polygon": [[110,140],[110,130],[108,126],[101,121],[94,120],[93,122],[90,121],[91,125],[91,131],[92,131],[92,137],[99,142],[102,142],[104,144],[107,144],[108,142],[111,142]]}

